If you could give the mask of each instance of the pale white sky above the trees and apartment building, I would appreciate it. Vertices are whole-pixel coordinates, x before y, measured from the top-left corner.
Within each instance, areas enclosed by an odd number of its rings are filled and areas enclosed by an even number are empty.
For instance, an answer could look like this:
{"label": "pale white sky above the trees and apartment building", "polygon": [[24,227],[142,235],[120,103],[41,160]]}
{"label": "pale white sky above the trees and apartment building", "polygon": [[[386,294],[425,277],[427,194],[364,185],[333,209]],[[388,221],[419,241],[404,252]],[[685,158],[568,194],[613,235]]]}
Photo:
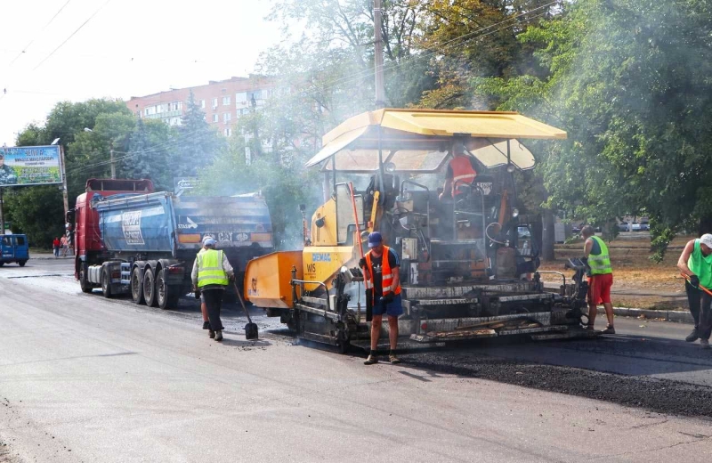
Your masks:
{"label": "pale white sky above the trees and apartment building", "polygon": [[[57,102],[247,77],[279,43],[269,0],[2,0],[0,146]],[[24,51],[24,53],[23,53]]]}

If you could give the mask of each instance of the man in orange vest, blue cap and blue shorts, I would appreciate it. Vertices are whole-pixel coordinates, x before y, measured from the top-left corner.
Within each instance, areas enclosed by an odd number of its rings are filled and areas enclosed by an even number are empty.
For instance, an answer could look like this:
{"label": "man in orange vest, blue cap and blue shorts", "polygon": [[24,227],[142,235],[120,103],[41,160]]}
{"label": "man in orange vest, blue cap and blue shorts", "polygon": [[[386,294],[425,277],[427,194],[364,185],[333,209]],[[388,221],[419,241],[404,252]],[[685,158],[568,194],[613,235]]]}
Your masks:
{"label": "man in orange vest, blue cap and blue shorts", "polygon": [[401,363],[396,357],[398,345],[398,317],[403,314],[401,303],[401,261],[391,248],[384,246],[381,233],[374,231],[368,235],[368,253],[361,257],[359,265],[364,269],[366,290],[371,291],[373,320],[371,321],[371,352],[364,364],[371,365],[378,361],[376,350],[381,336],[384,314],[388,315],[388,337],[391,342],[391,363]]}

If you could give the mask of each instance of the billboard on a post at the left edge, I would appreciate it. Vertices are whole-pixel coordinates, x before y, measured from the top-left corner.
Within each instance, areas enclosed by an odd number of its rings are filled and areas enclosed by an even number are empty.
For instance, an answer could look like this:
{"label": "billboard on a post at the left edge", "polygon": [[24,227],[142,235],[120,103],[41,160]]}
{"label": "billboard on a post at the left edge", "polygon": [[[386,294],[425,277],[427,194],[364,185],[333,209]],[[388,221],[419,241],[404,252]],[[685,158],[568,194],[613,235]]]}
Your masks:
{"label": "billboard on a post at the left edge", "polygon": [[60,147],[0,148],[0,186],[61,183]]}

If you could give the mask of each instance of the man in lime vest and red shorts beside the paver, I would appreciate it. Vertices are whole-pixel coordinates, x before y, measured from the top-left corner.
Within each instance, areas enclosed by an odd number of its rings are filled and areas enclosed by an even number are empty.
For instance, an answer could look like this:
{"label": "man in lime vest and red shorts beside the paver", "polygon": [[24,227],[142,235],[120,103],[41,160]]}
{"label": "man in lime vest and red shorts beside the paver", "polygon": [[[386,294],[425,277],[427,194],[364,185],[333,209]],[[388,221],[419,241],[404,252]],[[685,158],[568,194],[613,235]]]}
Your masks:
{"label": "man in lime vest and red shorts beside the paver", "polygon": [[586,225],[581,229],[584,243],[584,255],[590,267],[588,275],[588,329],[594,329],[595,316],[598,305],[603,304],[606,311],[608,325],[603,329],[603,334],[614,335],[613,305],[611,304],[611,286],[613,286],[613,267],[611,256],[608,254],[606,243],[595,236],[594,227]]}

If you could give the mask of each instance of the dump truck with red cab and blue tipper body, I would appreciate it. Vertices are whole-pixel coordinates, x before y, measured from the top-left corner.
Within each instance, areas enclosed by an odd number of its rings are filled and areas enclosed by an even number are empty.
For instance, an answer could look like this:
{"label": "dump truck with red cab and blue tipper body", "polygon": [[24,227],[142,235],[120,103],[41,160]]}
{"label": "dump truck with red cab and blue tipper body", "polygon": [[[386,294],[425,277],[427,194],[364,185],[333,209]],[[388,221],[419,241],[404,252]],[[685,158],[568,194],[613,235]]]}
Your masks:
{"label": "dump truck with red cab and blue tipper body", "polygon": [[75,278],[82,291],[130,293],[136,304],[172,308],[190,293],[205,236],[217,241],[241,278],[245,264],[272,250],[263,197],[175,196],[150,180],[90,179],[68,213]]}

